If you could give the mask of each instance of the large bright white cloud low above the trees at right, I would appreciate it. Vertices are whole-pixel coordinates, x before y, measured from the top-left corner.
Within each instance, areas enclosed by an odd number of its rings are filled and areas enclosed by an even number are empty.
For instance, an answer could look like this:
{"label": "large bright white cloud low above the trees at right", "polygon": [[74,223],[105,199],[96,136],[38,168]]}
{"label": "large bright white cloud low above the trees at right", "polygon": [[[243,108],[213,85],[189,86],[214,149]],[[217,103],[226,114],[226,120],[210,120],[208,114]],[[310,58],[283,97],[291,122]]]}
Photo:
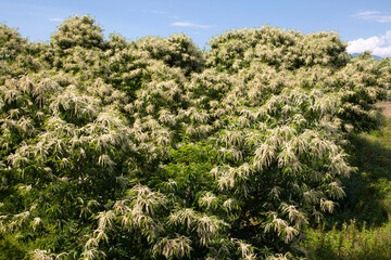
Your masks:
{"label": "large bright white cloud low above the trees at right", "polygon": [[391,30],[381,36],[373,36],[367,39],[356,39],[348,42],[346,51],[349,53],[362,53],[371,51],[377,56],[391,56]]}

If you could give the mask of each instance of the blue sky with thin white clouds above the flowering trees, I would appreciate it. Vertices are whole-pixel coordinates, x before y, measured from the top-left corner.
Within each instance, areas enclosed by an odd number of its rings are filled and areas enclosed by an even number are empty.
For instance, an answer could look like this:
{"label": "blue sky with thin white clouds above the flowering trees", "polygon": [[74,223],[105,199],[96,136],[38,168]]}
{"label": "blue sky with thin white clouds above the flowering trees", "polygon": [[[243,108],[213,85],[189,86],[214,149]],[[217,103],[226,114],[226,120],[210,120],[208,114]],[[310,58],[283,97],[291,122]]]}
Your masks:
{"label": "blue sky with thin white clouds above the flowering trees", "polygon": [[105,36],[185,32],[200,48],[226,30],[265,24],[304,34],[333,30],[350,42],[349,52],[391,56],[391,0],[0,0],[0,23],[31,41],[49,41],[74,14],[96,17]]}

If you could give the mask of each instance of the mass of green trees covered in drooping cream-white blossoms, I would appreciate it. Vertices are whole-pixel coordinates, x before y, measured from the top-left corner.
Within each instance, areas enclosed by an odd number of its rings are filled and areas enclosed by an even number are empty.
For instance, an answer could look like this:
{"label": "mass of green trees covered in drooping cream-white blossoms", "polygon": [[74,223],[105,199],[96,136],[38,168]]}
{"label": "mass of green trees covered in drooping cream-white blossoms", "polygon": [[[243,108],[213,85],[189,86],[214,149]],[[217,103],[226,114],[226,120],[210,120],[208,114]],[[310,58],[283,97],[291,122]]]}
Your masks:
{"label": "mass of green trees covered in drooping cream-white blossoms", "polygon": [[30,259],[288,259],[344,196],[348,134],[378,126],[390,80],[333,32],[201,52],[104,40],[90,16],[49,44],[0,29],[1,246]]}

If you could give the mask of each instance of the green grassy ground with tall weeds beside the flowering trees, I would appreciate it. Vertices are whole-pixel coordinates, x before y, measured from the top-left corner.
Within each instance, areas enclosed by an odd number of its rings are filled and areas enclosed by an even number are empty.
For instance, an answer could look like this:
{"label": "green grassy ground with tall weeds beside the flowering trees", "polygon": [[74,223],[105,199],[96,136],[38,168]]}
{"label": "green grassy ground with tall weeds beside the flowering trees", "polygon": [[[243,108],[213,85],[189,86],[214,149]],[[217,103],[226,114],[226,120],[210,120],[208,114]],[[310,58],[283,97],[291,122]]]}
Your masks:
{"label": "green grassy ground with tall weeds beside the flowering trees", "polygon": [[310,229],[301,248],[313,259],[391,259],[391,102],[382,108],[380,130],[351,138],[346,197],[323,226]]}

